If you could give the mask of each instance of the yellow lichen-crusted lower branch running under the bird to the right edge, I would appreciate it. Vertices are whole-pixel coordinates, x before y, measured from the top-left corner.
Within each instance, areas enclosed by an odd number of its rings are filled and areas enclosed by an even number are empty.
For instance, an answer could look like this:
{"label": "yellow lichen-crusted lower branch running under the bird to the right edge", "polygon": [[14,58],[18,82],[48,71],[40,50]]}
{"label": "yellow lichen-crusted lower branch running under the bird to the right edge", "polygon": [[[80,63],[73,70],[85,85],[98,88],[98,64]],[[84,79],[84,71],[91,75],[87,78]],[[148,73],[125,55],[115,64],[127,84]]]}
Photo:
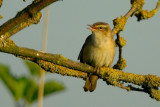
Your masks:
{"label": "yellow lichen-crusted lower branch running under the bird to the right edge", "polygon": [[[117,86],[127,91],[145,92],[148,93],[151,98],[160,101],[160,90],[158,90],[158,87],[160,87],[160,77],[155,75],[139,75],[106,67],[100,68],[100,70],[95,73],[88,71],[77,71],[42,60],[34,60],[34,62],[41,66],[45,71],[58,73],[63,76],[65,75],[85,79],[87,77],[87,73],[94,73],[109,85]],[[94,68],[92,69],[94,70]],[[141,88],[139,89],[132,85],[125,86],[124,83],[132,83],[134,85],[141,86]]]}

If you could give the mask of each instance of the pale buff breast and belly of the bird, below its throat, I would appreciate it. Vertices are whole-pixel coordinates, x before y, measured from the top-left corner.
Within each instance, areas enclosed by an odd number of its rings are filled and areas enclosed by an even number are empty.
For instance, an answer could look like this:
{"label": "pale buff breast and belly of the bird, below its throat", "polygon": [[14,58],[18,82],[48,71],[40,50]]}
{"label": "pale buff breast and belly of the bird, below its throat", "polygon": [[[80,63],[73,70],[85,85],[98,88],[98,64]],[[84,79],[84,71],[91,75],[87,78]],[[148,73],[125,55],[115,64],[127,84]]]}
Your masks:
{"label": "pale buff breast and belly of the bird, below its throat", "polygon": [[95,66],[111,66],[115,55],[115,44],[113,40],[98,44],[88,44],[83,52],[84,62]]}

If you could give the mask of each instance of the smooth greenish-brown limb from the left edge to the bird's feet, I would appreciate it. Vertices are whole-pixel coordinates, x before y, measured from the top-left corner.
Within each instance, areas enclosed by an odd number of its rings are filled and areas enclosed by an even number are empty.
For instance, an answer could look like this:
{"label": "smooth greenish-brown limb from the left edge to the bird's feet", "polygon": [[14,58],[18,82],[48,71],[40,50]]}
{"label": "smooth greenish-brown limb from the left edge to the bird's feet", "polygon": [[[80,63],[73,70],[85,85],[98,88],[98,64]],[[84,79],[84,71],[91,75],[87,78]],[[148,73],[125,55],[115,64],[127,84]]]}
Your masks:
{"label": "smooth greenish-brown limb from the left edge to the bird's feet", "polygon": [[93,73],[95,70],[93,70],[93,67],[90,67],[89,65],[85,65],[82,63],[77,63],[75,61],[72,61],[70,59],[67,59],[63,57],[62,55],[58,54],[49,54],[44,53],[40,51],[36,51],[34,49],[28,49],[24,47],[18,47],[13,44],[13,41],[8,42],[2,42],[0,44],[0,51],[5,53],[10,53],[15,56],[23,56],[23,57],[29,57],[29,58],[36,58],[48,62],[52,62],[54,64],[58,64],[64,67],[68,67],[71,69],[76,69],[80,71],[87,71]]}

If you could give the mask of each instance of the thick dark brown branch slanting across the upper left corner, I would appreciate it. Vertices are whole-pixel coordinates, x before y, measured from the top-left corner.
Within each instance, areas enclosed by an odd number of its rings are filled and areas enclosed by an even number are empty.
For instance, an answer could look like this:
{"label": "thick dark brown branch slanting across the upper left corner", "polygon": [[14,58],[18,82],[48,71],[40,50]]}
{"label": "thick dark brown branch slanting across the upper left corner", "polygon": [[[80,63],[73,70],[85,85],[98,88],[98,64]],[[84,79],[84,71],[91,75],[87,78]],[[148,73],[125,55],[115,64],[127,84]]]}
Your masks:
{"label": "thick dark brown branch slanting across the upper left corner", "polygon": [[[18,12],[14,18],[8,20],[6,23],[0,26],[0,38],[1,36],[3,36],[3,38],[5,39],[9,38],[10,36],[12,36],[12,34],[16,32],[11,33],[10,35],[4,35],[6,32],[9,32],[12,29],[16,29],[18,27],[17,25],[20,25],[21,23],[26,22],[29,18],[32,18],[34,15],[36,15],[40,10],[42,10],[46,6],[56,1],[58,0],[39,0],[37,2],[33,1],[31,5],[27,6],[22,11]],[[25,27],[27,26],[24,26],[18,29],[22,30]],[[17,32],[19,30],[17,30]]]}

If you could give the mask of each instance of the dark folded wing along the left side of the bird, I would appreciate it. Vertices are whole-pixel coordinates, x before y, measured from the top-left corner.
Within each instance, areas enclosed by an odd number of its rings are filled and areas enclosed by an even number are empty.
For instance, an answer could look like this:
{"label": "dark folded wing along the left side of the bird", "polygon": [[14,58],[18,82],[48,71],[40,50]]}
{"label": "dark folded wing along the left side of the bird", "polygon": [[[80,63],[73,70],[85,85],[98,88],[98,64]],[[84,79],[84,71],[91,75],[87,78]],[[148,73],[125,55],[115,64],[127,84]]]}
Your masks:
{"label": "dark folded wing along the left side of the bird", "polygon": [[83,63],[83,51],[84,51],[84,48],[85,48],[85,46],[87,45],[87,43],[89,43],[89,41],[91,40],[91,36],[92,36],[92,35],[89,35],[89,36],[86,38],[86,41],[85,41],[85,43],[83,44],[82,49],[81,49],[81,51],[80,51],[80,53],[79,53],[78,60],[80,60],[80,62],[82,62],[82,63]]}

